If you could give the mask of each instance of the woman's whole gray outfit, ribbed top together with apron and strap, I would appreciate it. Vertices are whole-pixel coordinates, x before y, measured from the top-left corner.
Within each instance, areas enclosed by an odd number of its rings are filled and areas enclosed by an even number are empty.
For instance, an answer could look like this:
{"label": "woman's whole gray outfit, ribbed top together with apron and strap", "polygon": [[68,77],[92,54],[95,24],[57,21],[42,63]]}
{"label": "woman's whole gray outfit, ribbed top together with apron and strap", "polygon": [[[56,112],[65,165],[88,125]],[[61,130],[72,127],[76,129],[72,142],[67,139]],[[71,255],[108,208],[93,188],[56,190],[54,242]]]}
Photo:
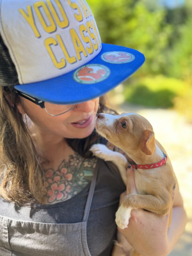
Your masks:
{"label": "woman's whole gray outfit, ribbed top together with apron and strap", "polygon": [[71,199],[18,208],[0,198],[0,256],[109,256],[125,191],[117,169],[97,159],[92,181]]}

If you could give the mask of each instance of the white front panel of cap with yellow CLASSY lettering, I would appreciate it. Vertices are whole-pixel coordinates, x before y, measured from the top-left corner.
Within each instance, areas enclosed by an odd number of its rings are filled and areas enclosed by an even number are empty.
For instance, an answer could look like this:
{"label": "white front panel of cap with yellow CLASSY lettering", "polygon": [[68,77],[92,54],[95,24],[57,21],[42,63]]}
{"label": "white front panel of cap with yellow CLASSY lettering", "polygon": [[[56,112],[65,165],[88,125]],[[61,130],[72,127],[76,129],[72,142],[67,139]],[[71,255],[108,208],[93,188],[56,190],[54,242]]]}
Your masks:
{"label": "white front panel of cap with yellow CLASSY lettering", "polygon": [[66,74],[101,50],[97,25],[84,0],[1,0],[0,32],[20,84]]}

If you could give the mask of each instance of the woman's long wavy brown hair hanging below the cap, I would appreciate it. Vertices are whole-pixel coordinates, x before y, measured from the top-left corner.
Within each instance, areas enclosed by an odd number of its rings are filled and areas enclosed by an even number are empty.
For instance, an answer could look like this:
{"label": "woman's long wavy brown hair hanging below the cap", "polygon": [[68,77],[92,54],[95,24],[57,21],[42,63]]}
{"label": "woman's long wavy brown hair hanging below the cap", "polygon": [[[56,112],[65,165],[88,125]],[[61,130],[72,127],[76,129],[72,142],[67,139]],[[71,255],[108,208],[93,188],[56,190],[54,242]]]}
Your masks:
{"label": "woman's long wavy brown hair hanging below the cap", "polygon": [[[100,97],[98,113],[118,114],[106,106],[106,101],[106,95]],[[28,126],[17,108],[19,103],[23,106],[13,86],[0,86],[0,197],[19,205],[41,204],[44,170]],[[79,155],[91,158],[89,148],[100,138],[94,130],[87,138],[67,139],[67,143]]]}

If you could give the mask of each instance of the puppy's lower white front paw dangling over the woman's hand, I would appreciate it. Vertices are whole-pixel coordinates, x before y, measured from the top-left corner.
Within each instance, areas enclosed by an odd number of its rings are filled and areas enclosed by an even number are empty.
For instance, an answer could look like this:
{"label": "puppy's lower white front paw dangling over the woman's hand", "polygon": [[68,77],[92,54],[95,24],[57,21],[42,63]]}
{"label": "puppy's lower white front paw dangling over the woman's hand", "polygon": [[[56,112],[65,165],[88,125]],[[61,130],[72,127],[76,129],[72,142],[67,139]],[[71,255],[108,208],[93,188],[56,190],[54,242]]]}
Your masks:
{"label": "puppy's lower white front paw dangling over the woman's hand", "polygon": [[125,208],[124,206],[120,206],[118,211],[116,212],[116,224],[119,228],[124,229],[127,228],[129,224],[129,218],[131,217],[131,207]]}

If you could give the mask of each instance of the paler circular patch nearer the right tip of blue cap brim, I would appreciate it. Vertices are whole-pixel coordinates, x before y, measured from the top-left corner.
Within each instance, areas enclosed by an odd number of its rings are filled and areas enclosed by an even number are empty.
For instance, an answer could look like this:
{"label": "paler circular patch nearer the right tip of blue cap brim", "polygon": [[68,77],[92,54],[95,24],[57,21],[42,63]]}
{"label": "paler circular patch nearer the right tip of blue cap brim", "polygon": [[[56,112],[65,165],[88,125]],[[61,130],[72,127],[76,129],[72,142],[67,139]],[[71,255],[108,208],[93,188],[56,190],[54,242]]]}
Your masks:
{"label": "paler circular patch nearer the right tip of blue cap brim", "polygon": [[133,61],[135,56],[129,52],[105,52],[101,59],[112,64],[123,64]]}

